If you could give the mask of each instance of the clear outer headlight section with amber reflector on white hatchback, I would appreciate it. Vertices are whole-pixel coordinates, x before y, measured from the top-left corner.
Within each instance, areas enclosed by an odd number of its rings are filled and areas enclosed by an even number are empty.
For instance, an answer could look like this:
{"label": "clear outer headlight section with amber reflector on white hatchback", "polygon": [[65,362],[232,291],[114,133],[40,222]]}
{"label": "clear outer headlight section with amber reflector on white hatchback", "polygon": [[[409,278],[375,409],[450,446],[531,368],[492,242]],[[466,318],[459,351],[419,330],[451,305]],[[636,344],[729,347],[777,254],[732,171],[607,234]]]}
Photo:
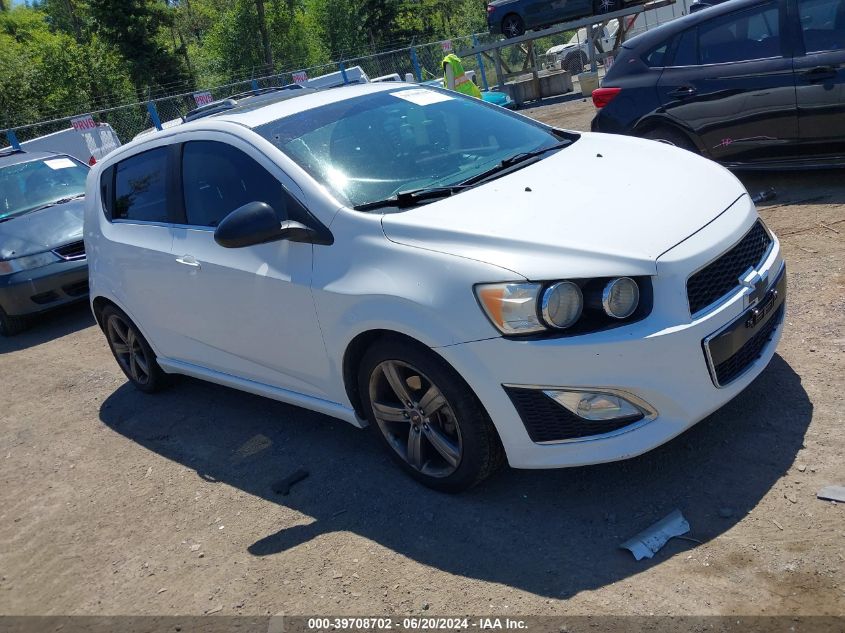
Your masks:
{"label": "clear outer headlight section with amber reflector on white hatchback", "polygon": [[537,317],[542,284],[483,284],[475,293],[487,318],[502,334],[532,334],[546,328]]}

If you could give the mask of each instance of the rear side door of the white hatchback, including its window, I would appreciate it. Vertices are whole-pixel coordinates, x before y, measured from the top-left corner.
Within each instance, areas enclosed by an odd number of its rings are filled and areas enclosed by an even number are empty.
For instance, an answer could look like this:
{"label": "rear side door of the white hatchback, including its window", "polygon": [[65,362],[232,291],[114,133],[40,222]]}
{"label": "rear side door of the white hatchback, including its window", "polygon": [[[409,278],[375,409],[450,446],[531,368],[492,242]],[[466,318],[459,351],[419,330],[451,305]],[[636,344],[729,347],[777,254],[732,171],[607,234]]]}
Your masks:
{"label": "rear side door of the white hatchback, including its window", "polygon": [[158,351],[176,334],[166,309],[172,296],[172,222],[176,219],[169,170],[172,149],[162,145],[125,158],[102,176],[108,222],[108,271],[121,306]]}

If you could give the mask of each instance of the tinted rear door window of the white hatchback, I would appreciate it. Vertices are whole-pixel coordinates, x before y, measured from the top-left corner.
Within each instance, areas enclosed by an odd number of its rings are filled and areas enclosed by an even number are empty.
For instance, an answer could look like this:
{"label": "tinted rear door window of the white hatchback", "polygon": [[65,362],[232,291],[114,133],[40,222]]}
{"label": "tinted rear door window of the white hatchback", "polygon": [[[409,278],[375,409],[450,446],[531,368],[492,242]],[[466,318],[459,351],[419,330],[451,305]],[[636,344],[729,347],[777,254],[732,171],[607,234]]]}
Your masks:
{"label": "tinted rear door window of the white hatchback", "polygon": [[168,222],[167,148],[157,147],[120,161],[115,167],[115,220]]}

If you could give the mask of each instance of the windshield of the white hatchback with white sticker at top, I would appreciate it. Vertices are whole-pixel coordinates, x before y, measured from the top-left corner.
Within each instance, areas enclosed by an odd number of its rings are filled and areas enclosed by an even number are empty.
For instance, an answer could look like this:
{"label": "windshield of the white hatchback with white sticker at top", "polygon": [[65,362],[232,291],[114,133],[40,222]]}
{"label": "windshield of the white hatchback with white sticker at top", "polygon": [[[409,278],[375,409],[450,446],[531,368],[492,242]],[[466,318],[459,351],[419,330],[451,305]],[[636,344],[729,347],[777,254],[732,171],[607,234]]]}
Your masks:
{"label": "windshield of the white hatchback with white sticker at top", "polygon": [[255,131],[350,206],[455,185],[561,141],[503,108],[429,88],[347,99]]}

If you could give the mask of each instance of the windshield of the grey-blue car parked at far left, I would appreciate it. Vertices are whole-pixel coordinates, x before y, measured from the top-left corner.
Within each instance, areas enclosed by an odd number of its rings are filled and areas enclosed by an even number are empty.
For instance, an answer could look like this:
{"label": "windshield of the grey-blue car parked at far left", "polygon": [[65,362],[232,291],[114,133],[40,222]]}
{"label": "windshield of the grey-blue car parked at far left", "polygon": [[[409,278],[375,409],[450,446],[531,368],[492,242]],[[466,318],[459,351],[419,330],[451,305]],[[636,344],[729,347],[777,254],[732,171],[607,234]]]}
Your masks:
{"label": "windshield of the grey-blue car parked at far left", "polygon": [[0,220],[85,193],[88,168],[68,156],[0,167]]}

